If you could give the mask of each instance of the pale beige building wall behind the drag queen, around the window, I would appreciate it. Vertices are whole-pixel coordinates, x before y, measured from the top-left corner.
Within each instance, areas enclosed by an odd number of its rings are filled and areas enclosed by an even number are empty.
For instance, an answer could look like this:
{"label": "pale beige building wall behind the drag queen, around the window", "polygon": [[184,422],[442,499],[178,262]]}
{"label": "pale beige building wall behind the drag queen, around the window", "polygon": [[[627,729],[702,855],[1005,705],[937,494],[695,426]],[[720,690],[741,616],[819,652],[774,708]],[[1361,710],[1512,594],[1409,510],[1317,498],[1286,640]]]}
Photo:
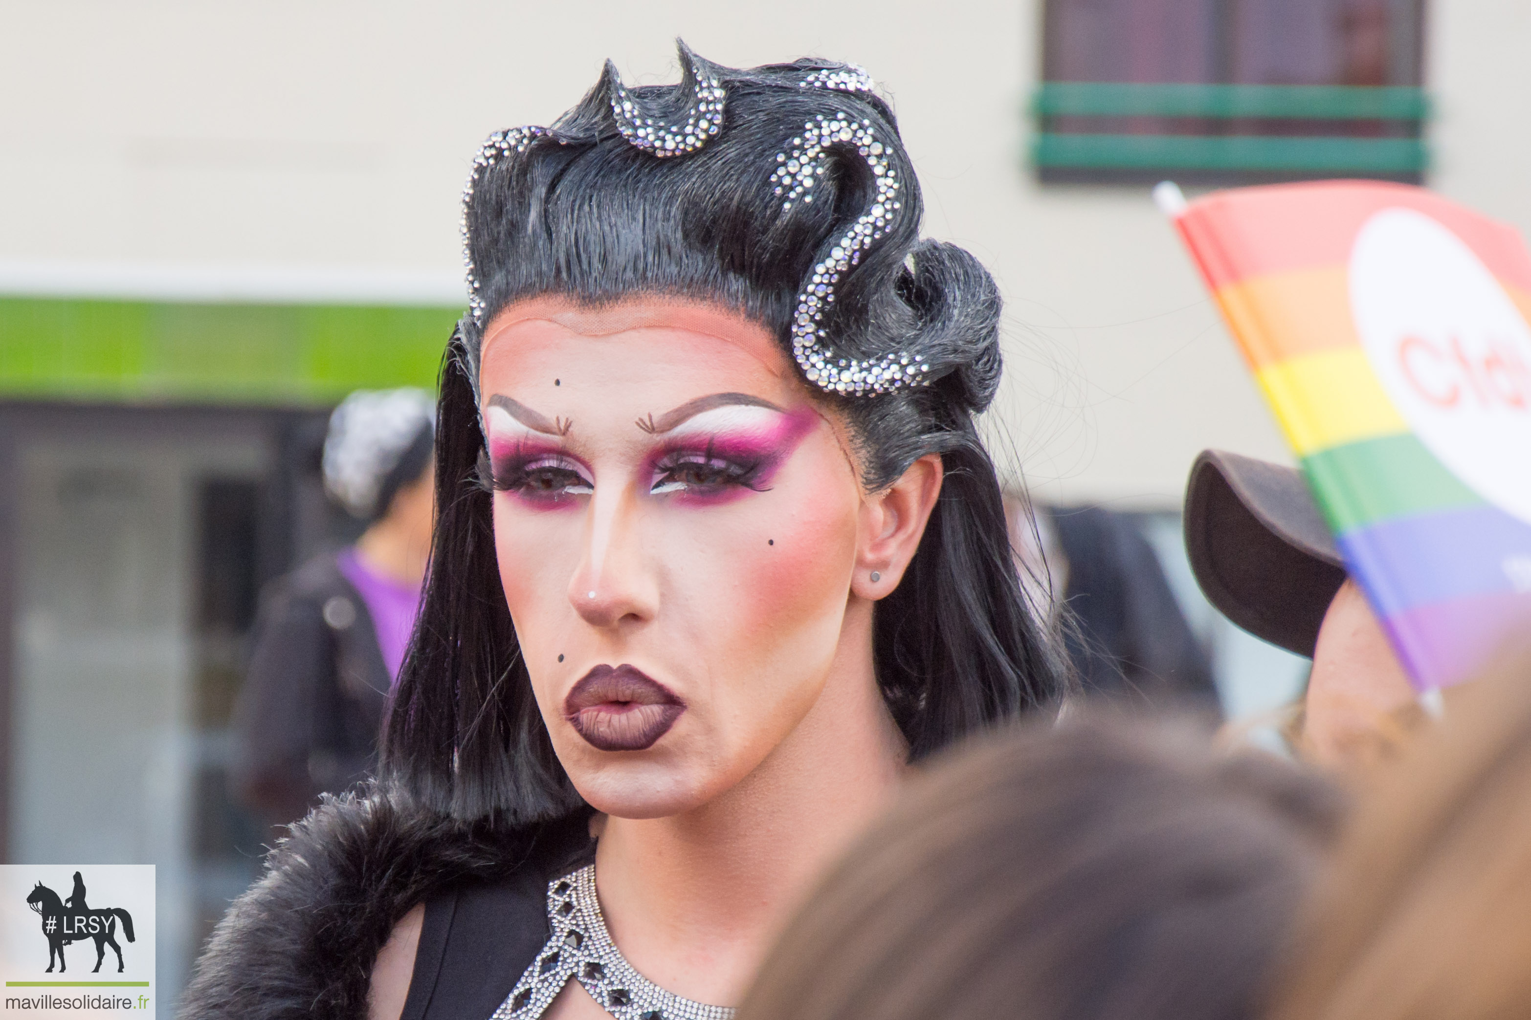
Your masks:
{"label": "pale beige building wall behind the drag queen, around the window", "polygon": [[[675,80],[675,35],[733,66],[848,60],[899,112],[926,232],[1000,278],[992,427],[1027,480],[1168,506],[1202,447],[1283,447],[1147,188],[1030,177],[1040,21],[1040,0],[5,0],[0,289],[38,265],[326,268],[456,300],[479,141],[548,122],[606,57],[629,83]],[[1441,0],[1428,35],[1435,184],[1531,228],[1531,5]]]}

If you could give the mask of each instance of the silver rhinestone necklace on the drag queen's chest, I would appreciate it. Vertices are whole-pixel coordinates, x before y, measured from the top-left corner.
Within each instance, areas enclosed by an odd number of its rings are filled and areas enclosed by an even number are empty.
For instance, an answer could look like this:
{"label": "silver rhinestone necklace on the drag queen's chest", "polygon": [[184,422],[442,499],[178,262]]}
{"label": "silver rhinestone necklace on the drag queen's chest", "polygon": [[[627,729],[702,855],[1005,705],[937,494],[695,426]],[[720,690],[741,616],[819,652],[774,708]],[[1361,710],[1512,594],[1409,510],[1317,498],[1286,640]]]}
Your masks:
{"label": "silver rhinestone necklace on the drag queen's chest", "polygon": [[547,945],[490,1020],[537,1020],[571,977],[617,1020],[733,1020],[730,1006],[672,996],[628,963],[606,931],[594,864],[548,882],[548,924]]}

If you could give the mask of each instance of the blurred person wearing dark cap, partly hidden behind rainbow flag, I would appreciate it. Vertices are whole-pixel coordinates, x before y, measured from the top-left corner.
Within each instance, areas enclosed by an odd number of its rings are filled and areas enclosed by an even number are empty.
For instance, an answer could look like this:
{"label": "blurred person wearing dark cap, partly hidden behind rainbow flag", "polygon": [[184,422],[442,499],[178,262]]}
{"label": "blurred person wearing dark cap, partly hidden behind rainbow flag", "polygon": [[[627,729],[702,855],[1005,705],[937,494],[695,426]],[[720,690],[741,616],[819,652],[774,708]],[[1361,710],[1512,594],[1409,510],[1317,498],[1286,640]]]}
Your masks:
{"label": "blurred person wearing dark cap, partly hidden behind rainbow flag", "polygon": [[1314,661],[1288,728],[1304,757],[1366,771],[1422,719],[1409,674],[1295,468],[1206,450],[1185,491],[1185,549],[1206,599]]}

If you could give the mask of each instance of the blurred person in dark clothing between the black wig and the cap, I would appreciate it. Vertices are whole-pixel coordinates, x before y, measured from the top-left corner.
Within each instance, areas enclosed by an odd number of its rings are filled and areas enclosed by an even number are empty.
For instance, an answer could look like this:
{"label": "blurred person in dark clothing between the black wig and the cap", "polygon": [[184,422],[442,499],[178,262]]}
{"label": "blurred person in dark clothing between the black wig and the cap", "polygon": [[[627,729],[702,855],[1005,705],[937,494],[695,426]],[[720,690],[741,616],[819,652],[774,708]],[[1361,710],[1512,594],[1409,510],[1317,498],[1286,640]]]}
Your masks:
{"label": "blurred person in dark clothing between the black wig and the cap", "polygon": [[1035,604],[1058,610],[1085,696],[1222,714],[1211,662],[1131,514],[1030,508],[1017,494],[1006,495],[1004,512],[1023,584]]}

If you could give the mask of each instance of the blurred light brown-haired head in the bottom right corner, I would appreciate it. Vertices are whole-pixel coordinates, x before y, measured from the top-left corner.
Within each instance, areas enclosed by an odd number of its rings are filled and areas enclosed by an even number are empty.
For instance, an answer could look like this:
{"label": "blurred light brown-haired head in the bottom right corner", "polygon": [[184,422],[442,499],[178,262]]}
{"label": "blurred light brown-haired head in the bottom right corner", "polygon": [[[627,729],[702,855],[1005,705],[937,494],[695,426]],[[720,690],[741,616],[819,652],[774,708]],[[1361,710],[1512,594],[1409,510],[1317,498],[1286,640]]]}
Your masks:
{"label": "blurred light brown-haired head in the bottom right corner", "polygon": [[1531,656],[1454,694],[1337,847],[1275,1020],[1531,1012]]}

